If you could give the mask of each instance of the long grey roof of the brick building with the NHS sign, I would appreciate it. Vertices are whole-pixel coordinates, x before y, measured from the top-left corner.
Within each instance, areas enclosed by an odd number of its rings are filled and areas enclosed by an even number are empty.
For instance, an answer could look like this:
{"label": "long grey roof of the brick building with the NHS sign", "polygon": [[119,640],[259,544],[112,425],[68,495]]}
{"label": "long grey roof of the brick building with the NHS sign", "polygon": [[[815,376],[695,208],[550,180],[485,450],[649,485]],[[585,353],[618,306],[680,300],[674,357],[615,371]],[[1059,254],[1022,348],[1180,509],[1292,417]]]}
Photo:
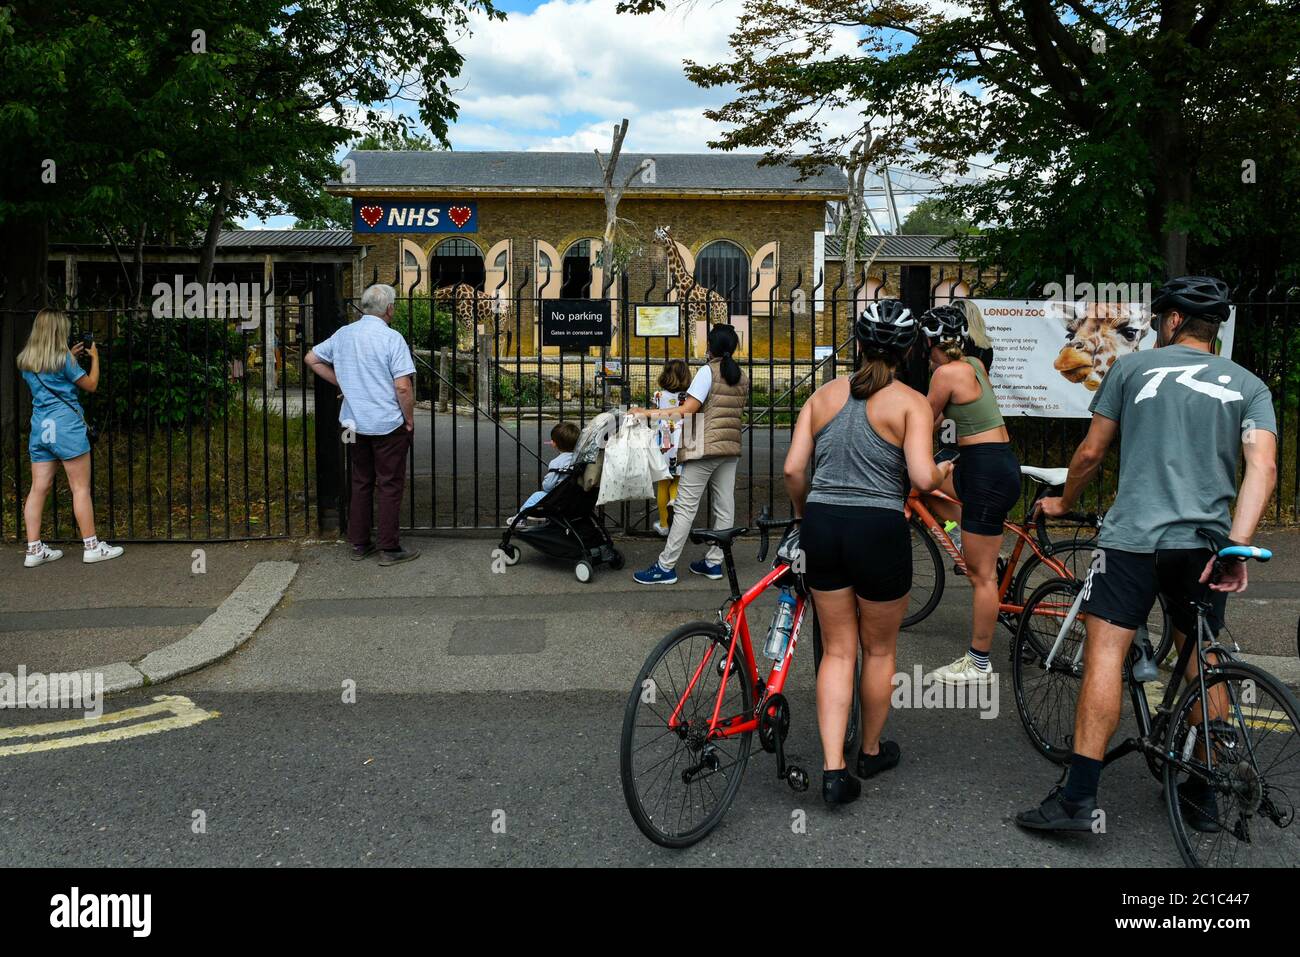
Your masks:
{"label": "long grey roof of the brick building with the NHS sign", "polygon": [[[356,163],[356,181],[330,183],[341,189],[433,187],[464,190],[599,190],[601,172],[594,153],[559,152],[456,152],[370,151],[347,155]],[[800,181],[797,169],[762,166],[760,153],[623,153],[621,181],[646,159],[654,160],[654,178],[633,178],[624,195],[636,192],[737,190],[774,194],[838,196],[844,173],[827,169]]]}

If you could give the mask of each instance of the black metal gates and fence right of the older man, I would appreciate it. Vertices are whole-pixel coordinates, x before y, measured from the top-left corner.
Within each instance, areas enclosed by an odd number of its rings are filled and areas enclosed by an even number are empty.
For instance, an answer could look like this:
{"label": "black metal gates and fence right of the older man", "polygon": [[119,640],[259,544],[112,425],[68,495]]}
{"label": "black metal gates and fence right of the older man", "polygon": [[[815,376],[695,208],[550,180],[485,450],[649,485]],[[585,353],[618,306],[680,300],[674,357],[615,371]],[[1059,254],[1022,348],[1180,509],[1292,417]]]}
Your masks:
{"label": "black metal gates and fence right of the older man", "polygon": [[[578,352],[563,352],[541,341],[540,316],[546,296],[540,296],[538,290],[558,289],[558,276],[552,281],[547,274],[534,277],[525,270],[514,282],[507,278],[494,289],[473,290],[465,302],[446,300],[441,306],[437,294],[430,299],[416,291],[419,276],[399,289],[395,326],[416,356],[421,400],[403,506],[407,528],[504,524],[540,486],[551,454],[545,442],[555,423],[582,426],[606,410],[646,406],[667,359],[686,359],[692,371],[705,361],[703,322],[693,322],[685,304],[677,335],[634,334],[638,304],[672,300],[655,267],[641,273],[647,280],[638,289],[624,278],[619,287],[598,290],[614,320],[611,343]],[[844,282],[828,287],[823,277],[809,281],[802,273],[777,276],[766,295],[758,277],[748,296],[719,290],[728,303],[748,303],[744,315],[715,316],[740,330],[741,364],[751,386],[737,478],[737,521],[751,521],[764,507],[776,514],[788,508],[781,467],[798,410],[818,385],[853,368],[855,309],[868,298],[881,298],[894,282],[897,273],[887,276],[876,267],[859,274],[853,294]],[[909,304],[924,309],[954,294],[1011,298],[1001,290],[994,293],[1000,285],[997,274],[939,272],[931,276],[928,296]],[[582,291],[593,298],[590,287]],[[1291,359],[1296,296],[1297,289],[1287,283],[1243,286],[1238,293],[1235,358],[1274,389],[1282,423],[1280,480],[1271,510],[1278,521],[1294,520],[1300,510],[1300,447],[1295,441],[1295,380],[1300,373]],[[458,304],[462,317],[454,321]],[[722,308],[731,312],[727,306]],[[926,389],[928,365],[922,350],[907,363],[904,376],[916,389]],[[1087,425],[1086,419],[1009,421],[1022,462],[1039,465],[1067,464]],[[1115,467],[1113,452],[1087,493],[1086,506],[1105,507],[1113,495]],[[607,518],[625,532],[644,532],[655,520],[655,508],[651,502],[623,505]]]}

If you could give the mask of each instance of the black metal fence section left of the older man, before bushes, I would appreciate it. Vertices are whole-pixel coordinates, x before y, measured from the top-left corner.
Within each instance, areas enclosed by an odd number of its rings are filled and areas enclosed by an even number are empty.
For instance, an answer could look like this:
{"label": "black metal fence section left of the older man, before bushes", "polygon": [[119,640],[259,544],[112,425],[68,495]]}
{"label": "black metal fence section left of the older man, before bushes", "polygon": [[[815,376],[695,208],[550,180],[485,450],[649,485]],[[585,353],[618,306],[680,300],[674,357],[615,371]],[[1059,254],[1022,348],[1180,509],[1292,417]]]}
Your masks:
{"label": "black metal fence section left of the older man, before bushes", "polygon": [[[194,295],[182,281],[174,302],[170,293],[138,303],[90,293],[62,307],[74,335],[92,335],[99,352],[99,387],[81,398],[99,432],[91,476],[101,538],[315,533],[315,403],[302,364],[313,335],[313,293],[306,281],[278,280],[278,289]],[[23,347],[36,312],[31,304],[0,311],[8,361]],[[91,368],[88,356],[82,367]],[[0,538],[16,540],[25,533],[32,423],[21,374],[8,378],[0,403]],[[79,534],[58,476],[43,536]]]}

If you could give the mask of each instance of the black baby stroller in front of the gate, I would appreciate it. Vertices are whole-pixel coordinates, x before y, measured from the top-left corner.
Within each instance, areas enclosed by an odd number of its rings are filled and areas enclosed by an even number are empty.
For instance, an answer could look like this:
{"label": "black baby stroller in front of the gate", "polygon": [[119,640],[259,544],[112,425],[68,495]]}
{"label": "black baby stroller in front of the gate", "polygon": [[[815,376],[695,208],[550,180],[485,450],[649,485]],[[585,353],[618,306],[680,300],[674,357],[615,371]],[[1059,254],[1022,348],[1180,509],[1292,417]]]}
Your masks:
{"label": "black baby stroller in front of the gate", "polygon": [[[601,494],[604,438],[615,429],[618,420],[611,412],[602,412],[582,429],[573,450],[573,464],[560,471],[559,484],[537,505],[521,508],[511,519],[499,545],[506,564],[519,562],[519,546],[511,542],[511,538],[519,538],[543,555],[577,562],[573,575],[582,583],[595,576],[597,566],[607,564],[615,571],[623,567],[623,553],[614,547],[595,510],[595,499]],[[530,524],[529,519],[545,521]]]}

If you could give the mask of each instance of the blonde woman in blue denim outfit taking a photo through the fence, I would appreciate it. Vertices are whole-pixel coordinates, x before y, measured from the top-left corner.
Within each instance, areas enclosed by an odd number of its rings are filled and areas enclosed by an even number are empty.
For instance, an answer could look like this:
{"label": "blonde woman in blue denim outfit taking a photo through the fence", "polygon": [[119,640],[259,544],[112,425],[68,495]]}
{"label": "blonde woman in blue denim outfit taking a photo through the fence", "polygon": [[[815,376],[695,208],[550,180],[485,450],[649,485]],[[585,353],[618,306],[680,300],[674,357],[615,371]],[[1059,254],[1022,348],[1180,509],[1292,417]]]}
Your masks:
{"label": "blonde woman in blue denim outfit taking a photo through the fence", "polygon": [[[73,515],[81,529],[87,564],[107,562],[122,554],[120,545],[101,542],[95,536],[95,506],[90,494],[90,436],[82,415],[77,390],[87,393],[99,387],[99,350],[78,342],[68,348],[68,315],[56,309],[42,309],[31,326],[27,345],[18,354],[22,380],[31,391],[31,438],[27,454],[31,458],[31,492],[23,505],[27,523],[27,554],[23,566],[55,562],[64,557],[40,541],[40,516],[46,498],[55,485],[58,463],[64,463],[68,485],[73,493]],[[77,361],[90,355],[90,372]]]}

